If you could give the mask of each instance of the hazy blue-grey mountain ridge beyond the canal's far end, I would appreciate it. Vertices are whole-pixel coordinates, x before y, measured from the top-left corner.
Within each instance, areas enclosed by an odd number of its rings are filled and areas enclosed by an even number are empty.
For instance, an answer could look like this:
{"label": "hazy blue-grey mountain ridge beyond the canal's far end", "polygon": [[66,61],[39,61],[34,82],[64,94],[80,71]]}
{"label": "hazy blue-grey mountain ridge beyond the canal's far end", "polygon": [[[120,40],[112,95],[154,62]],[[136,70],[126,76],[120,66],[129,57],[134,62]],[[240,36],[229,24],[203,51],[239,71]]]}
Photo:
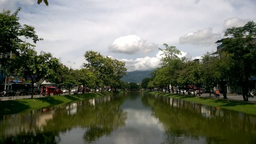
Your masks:
{"label": "hazy blue-grey mountain ridge beyond the canal's far end", "polygon": [[145,77],[151,77],[151,73],[152,70],[146,70],[146,71],[131,71],[131,72],[127,72],[128,75],[124,76],[123,78],[121,78],[122,81],[124,82],[134,82],[134,83],[141,83],[142,79]]}

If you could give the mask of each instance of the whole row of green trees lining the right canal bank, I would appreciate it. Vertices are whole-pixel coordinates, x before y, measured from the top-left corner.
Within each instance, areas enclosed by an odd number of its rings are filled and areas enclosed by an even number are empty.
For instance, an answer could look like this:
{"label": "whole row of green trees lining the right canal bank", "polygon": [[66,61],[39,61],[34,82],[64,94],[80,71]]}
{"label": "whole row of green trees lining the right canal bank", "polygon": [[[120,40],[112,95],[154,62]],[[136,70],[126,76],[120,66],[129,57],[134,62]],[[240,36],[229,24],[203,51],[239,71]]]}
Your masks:
{"label": "whole row of green trees lining the right canal bank", "polygon": [[241,86],[243,98],[248,101],[248,79],[256,75],[256,23],[249,21],[243,27],[228,28],[224,36],[230,37],[222,41],[225,50],[219,51],[218,55],[206,52],[202,63],[178,58],[180,51],[164,44],[165,49],[159,48],[163,52],[161,67],[151,73],[152,77],[144,78],[141,87],[163,89],[168,86],[170,92],[171,84],[173,92],[176,86],[185,89],[187,85],[204,85],[210,91],[219,84],[224,99],[227,99],[225,85],[229,79],[233,87]]}

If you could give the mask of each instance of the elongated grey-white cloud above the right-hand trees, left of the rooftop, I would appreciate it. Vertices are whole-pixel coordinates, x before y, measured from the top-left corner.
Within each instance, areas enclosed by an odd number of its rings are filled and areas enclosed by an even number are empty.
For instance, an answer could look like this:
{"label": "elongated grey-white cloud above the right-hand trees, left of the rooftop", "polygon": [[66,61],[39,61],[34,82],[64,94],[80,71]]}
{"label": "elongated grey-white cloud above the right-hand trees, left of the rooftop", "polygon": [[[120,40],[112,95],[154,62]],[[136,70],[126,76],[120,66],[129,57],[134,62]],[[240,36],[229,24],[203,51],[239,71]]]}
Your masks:
{"label": "elongated grey-white cloud above the right-hand trees, left of the rooftop", "polygon": [[181,44],[202,44],[210,45],[221,38],[221,34],[212,33],[212,28],[205,28],[197,32],[189,32],[180,37]]}

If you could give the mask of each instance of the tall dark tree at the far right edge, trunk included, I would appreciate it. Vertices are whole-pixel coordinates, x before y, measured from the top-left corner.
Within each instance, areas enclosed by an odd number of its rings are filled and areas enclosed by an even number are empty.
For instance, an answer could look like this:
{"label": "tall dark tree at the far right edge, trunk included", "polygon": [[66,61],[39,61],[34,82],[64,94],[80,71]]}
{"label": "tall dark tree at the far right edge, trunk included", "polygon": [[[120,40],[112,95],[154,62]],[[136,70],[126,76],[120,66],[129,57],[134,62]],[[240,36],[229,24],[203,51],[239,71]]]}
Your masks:
{"label": "tall dark tree at the far right edge, trunk included", "polygon": [[224,36],[231,36],[222,43],[234,64],[233,76],[242,87],[244,100],[248,101],[248,79],[256,74],[256,23],[249,21],[243,27],[228,28]]}

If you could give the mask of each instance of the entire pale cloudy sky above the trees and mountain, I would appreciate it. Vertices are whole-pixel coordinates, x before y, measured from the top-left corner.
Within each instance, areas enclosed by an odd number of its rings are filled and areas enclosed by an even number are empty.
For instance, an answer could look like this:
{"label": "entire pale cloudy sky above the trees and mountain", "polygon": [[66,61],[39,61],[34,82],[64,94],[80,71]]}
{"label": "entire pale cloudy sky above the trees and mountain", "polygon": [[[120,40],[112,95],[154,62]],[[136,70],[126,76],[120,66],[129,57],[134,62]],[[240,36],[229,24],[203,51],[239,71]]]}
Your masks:
{"label": "entire pale cloudy sky above the trees and mountain", "polygon": [[[35,27],[35,50],[51,52],[73,69],[84,53],[100,52],[125,62],[127,71],[159,67],[163,44],[188,60],[217,50],[227,28],[256,22],[256,0],[0,0],[0,10],[18,13],[20,24]],[[181,57],[180,56],[180,57]]]}

